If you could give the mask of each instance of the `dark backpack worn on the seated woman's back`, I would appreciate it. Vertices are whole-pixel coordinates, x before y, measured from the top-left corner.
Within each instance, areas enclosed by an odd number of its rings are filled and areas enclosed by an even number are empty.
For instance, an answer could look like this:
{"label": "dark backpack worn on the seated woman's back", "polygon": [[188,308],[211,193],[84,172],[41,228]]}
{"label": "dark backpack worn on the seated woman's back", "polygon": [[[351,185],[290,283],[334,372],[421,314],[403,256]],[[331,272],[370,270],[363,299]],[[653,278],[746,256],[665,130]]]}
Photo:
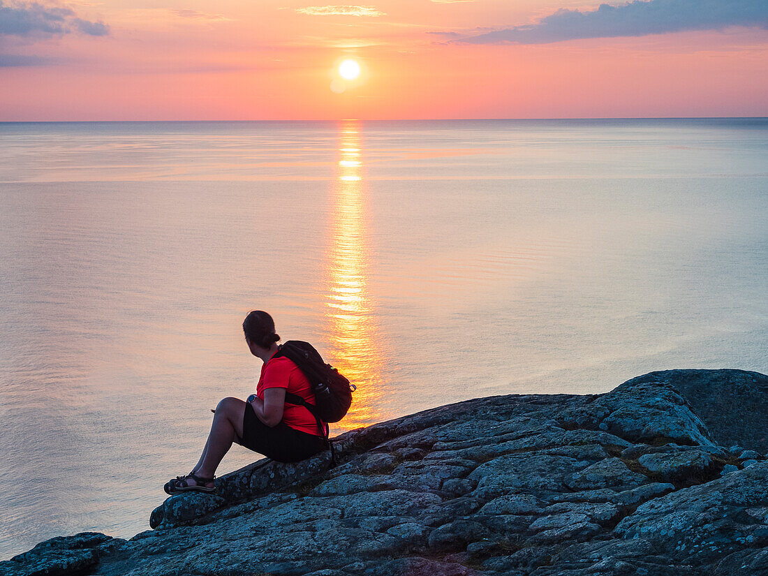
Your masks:
{"label": "dark backpack worn on the seated woman's back", "polygon": [[284,356],[299,366],[306,379],[310,381],[315,395],[315,406],[301,396],[286,392],[286,402],[298,404],[309,410],[317,420],[318,428],[328,438],[328,425],[323,422],[339,422],[349,411],[352,404],[352,392],[356,389],[341,372],[323,361],[323,357],[308,342],[288,340],[273,358]]}

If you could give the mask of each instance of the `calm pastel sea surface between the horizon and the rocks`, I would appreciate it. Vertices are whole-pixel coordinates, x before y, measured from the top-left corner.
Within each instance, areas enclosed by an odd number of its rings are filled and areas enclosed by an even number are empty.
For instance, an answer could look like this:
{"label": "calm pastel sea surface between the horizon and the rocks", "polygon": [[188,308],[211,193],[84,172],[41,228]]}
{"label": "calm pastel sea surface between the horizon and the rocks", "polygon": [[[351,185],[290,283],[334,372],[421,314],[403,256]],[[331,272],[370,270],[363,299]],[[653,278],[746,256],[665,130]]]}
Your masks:
{"label": "calm pastel sea surface between the horizon and the rocks", "polygon": [[766,249],[766,119],[0,124],[0,558],[147,529],[249,310],[358,384],[341,432],[768,372]]}

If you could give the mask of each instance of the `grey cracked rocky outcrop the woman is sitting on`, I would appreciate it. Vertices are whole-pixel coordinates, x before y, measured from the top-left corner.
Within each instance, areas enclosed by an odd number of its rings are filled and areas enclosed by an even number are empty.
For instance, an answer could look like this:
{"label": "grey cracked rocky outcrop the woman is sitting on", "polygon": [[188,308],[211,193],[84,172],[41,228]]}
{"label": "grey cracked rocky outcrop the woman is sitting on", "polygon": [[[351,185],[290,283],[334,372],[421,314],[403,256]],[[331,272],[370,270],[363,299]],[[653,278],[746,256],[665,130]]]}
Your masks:
{"label": "grey cracked rocky outcrop the woman is sitting on", "polygon": [[[688,398],[697,378],[719,382],[719,415]],[[334,468],[257,462],[167,498],[129,541],[54,538],[0,574],[768,574],[766,419],[730,422],[724,383],[756,399],[765,381],[653,372],[442,406],[339,436]]]}

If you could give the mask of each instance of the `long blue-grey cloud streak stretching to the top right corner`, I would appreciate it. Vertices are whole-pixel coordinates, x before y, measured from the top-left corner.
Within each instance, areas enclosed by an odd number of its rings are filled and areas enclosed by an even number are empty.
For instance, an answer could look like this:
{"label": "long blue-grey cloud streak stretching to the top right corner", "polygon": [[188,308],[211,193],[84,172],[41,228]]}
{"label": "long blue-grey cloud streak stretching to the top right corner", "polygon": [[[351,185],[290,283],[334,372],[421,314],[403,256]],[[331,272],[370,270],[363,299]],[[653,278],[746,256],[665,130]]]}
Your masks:
{"label": "long blue-grey cloud streak stretching to the top right corner", "polygon": [[538,24],[515,26],[453,42],[469,44],[547,44],[578,38],[644,36],[728,26],[768,28],[768,0],[650,0],[602,4],[581,12],[562,9]]}

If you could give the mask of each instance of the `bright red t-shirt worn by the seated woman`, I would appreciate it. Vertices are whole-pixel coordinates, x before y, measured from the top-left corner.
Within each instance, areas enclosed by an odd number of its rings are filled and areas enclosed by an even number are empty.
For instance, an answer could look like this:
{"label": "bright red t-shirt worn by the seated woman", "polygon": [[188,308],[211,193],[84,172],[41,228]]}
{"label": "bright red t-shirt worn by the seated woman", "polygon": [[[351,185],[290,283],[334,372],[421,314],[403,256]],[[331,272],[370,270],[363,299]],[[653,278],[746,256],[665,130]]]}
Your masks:
{"label": "bright red t-shirt worn by the seated woman", "polygon": [[[315,394],[312,392],[310,381],[306,379],[299,366],[296,366],[285,356],[270,358],[261,367],[261,376],[256,386],[256,396],[263,400],[264,390],[267,388],[284,388],[286,392],[300,396],[313,406],[315,404]],[[286,402],[283,409],[283,422],[300,432],[319,435],[315,417],[303,406]],[[323,426],[325,426],[325,422],[323,422]]]}

